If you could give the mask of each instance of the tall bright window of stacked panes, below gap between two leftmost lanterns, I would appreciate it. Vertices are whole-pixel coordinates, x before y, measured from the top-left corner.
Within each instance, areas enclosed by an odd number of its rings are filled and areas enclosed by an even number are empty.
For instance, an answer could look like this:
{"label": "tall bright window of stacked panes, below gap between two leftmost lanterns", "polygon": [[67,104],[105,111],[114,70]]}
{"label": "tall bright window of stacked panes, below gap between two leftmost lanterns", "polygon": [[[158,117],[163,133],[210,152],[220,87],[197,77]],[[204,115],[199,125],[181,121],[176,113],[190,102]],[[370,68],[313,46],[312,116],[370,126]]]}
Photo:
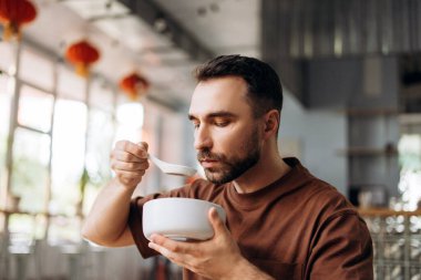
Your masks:
{"label": "tall bright window of stacked panes, below gap between two leftmost lanterns", "polygon": [[50,135],[53,97],[22,85],[14,129],[11,194],[23,211],[45,211],[49,187]]}

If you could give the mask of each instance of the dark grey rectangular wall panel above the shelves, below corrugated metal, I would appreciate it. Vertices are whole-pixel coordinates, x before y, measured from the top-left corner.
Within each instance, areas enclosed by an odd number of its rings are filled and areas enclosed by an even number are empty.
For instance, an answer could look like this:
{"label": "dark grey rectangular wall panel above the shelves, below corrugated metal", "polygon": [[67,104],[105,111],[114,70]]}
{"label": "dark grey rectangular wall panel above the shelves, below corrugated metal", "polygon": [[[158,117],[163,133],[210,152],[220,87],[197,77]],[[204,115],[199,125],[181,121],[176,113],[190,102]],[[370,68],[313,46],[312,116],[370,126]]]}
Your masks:
{"label": "dark grey rectangular wall panel above the shelves, below corrugated metal", "polygon": [[311,60],[305,75],[308,107],[398,108],[394,56]]}

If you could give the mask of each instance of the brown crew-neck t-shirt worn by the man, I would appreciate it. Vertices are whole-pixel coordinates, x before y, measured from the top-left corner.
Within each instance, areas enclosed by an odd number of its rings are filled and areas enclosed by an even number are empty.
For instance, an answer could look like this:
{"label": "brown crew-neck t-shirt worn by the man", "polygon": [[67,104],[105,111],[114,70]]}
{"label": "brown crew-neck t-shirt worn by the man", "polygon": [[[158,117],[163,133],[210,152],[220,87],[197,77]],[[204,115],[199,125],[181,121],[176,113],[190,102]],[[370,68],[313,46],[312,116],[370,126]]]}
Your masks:
{"label": "brown crew-neck t-shirt worn by the man", "polygon": [[[291,167],[288,174],[251,194],[238,194],[232,183],[199,179],[133,199],[129,224],[140,252],[156,255],[142,232],[142,205],[158,197],[191,197],[224,207],[243,256],[275,279],[373,279],[370,234],[356,209],[298,159],[285,162]],[[184,279],[204,278],[185,269]]]}

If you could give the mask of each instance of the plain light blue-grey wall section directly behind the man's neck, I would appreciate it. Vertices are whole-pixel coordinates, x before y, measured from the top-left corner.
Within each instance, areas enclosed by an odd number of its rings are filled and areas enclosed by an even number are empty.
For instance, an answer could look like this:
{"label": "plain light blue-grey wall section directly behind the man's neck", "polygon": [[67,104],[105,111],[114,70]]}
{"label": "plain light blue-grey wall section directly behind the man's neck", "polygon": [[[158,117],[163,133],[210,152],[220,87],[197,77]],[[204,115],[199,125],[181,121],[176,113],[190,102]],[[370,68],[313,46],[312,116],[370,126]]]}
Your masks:
{"label": "plain light blue-grey wall section directly behind the man's neck", "polygon": [[347,194],[347,160],[337,151],[347,145],[346,127],[343,115],[306,110],[285,90],[278,141],[281,154],[296,155],[315,176],[342,194]]}

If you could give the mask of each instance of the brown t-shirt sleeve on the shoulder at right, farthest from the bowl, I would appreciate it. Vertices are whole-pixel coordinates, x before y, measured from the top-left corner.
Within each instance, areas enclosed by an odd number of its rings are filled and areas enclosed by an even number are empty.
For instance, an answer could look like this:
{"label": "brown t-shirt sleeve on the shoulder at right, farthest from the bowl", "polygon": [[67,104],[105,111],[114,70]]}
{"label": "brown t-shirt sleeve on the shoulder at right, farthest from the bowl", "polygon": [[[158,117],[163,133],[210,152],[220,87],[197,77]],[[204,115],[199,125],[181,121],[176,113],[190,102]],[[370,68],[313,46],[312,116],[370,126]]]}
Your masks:
{"label": "brown t-shirt sleeve on the shoulder at right, farthest from the bowl", "polygon": [[353,210],[330,216],[318,229],[309,253],[305,279],[373,279],[370,232]]}

